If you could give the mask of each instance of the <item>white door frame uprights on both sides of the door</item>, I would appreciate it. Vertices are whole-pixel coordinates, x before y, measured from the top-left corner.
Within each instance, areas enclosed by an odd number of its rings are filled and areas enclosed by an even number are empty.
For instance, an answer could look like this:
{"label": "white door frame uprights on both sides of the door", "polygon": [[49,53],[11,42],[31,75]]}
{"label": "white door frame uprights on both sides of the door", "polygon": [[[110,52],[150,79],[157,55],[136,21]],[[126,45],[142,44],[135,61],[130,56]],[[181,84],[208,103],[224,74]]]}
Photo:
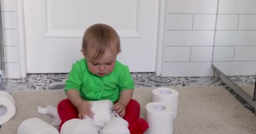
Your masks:
{"label": "white door frame uprights on both sides of the door", "polygon": [[[166,0],[158,0],[158,20],[157,20],[157,41],[156,41],[156,61],[155,74],[162,75],[163,62],[163,37],[165,22],[165,5]],[[18,17],[18,35],[19,35],[19,64],[21,77],[27,76],[27,59],[25,46],[25,29],[24,29],[24,10],[23,0],[17,0],[17,17]]]}

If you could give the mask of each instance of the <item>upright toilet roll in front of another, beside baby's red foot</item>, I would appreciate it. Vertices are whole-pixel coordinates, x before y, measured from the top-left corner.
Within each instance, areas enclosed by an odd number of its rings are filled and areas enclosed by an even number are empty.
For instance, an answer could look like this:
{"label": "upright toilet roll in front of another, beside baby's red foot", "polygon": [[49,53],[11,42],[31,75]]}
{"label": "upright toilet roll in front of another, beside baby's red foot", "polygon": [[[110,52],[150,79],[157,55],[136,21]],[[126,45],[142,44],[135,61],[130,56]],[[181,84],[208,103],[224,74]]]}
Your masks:
{"label": "upright toilet roll in front of another, beside baby's red foot", "polygon": [[173,108],[170,103],[152,102],[146,105],[147,134],[173,134]]}

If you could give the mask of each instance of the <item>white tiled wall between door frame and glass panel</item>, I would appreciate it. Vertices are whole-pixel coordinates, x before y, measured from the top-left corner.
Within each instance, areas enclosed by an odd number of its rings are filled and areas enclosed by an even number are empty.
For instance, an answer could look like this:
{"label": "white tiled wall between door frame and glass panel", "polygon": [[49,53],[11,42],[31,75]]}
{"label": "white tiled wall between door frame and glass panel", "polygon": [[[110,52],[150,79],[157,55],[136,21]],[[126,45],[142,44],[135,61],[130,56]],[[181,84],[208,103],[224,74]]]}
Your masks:
{"label": "white tiled wall between door frame and glass panel", "polygon": [[167,0],[162,76],[213,76],[218,0]]}

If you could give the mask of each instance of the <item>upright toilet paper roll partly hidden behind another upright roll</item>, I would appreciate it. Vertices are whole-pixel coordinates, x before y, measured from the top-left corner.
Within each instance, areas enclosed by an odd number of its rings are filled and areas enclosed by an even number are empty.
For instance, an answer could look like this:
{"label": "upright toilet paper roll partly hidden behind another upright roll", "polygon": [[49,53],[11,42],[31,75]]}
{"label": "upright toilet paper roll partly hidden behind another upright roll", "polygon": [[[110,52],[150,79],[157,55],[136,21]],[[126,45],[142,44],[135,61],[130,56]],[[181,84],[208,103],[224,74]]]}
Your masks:
{"label": "upright toilet paper roll partly hidden behind another upright roll", "polygon": [[171,103],[173,107],[173,118],[178,114],[179,93],[171,88],[156,88],[152,90],[152,102]]}

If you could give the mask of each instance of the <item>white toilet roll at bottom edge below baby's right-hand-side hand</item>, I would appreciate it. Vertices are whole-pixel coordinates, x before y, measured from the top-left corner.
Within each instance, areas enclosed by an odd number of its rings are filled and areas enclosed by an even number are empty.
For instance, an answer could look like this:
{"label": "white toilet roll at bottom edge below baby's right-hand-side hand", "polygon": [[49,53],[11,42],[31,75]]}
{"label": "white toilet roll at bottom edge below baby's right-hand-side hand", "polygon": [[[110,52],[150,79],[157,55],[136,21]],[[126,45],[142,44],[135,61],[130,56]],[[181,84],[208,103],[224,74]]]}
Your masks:
{"label": "white toilet roll at bottom edge below baby's right-hand-side hand", "polygon": [[99,134],[130,134],[128,122],[120,117],[112,117]]}

